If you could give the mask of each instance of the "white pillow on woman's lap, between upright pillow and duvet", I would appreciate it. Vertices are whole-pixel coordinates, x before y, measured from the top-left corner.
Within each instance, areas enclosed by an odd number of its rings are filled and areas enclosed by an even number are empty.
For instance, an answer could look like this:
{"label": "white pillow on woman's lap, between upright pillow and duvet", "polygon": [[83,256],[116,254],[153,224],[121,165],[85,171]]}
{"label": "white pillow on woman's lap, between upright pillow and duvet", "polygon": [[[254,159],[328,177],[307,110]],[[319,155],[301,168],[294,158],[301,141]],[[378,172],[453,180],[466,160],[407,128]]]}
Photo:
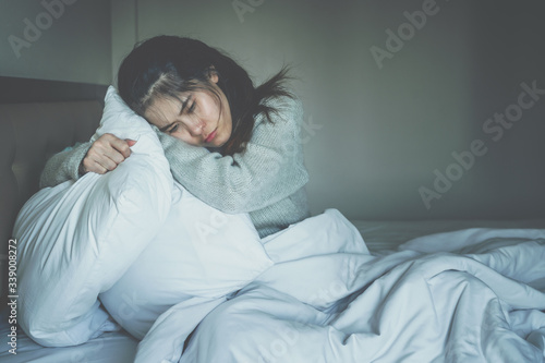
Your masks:
{"label": "white pillow on woman's lap, between upright pillow and duvet", "polygon": [[214,301],[271,265],[246,214],[219,211],[174,182],[165,226],[100,300],[123,328],[142,339],[170,306],[191,299]]}

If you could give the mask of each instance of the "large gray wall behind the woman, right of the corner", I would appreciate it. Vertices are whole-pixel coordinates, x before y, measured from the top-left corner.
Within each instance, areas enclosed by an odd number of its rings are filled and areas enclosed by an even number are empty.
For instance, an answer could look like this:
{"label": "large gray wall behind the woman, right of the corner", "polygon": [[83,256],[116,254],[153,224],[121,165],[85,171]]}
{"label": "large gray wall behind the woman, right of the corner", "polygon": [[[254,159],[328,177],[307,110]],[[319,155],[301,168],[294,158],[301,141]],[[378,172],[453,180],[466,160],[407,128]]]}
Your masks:
{"label": "large gray wall behind the woman, right of the corner", "polygon": [[[283,62],[295,65],[314,214],[545,215],[545,99],[523,96],[528,109],[517,106],[522,83],[545,88],[542,2],[123,1],[134,32],[119,44],[196,37],[231,53],[257,83]],[[113,36],[123,28],[116,24]],[[403,44],[388,40],[388,29],[405,32]],[[487,121],[506,109],[516,121]]]}

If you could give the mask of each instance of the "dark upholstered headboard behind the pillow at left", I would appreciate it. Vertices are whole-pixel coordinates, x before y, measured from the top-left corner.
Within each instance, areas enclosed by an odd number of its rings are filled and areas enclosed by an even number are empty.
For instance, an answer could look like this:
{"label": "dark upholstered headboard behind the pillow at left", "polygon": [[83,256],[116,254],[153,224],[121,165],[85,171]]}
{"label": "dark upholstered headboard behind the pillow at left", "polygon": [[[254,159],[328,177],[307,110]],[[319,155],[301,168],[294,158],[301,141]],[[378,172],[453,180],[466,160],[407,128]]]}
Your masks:
{"label": "dark upholstered headboard behind the pillow at left", "polygon": [[7,297],[8,242],[23,204],[38,191],[47,159],[88,141],[107,86],[0,76],[0,290]]}

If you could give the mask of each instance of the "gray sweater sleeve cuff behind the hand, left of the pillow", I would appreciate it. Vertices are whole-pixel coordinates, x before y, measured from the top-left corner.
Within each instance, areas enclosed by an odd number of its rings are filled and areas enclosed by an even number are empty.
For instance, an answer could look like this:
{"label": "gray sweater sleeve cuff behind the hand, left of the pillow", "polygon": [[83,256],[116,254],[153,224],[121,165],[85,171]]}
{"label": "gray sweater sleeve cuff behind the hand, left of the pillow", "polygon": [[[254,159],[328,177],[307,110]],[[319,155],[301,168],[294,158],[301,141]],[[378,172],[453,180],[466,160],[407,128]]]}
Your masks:
{"label": "gray sweater sleeve cuff behind the hand, left of the pillow", "polygon": [[53,155],[47,162],[39,179],[39,187],[56,186],[66,180],[80,179],[80,164],[92,143],[83,143]]}

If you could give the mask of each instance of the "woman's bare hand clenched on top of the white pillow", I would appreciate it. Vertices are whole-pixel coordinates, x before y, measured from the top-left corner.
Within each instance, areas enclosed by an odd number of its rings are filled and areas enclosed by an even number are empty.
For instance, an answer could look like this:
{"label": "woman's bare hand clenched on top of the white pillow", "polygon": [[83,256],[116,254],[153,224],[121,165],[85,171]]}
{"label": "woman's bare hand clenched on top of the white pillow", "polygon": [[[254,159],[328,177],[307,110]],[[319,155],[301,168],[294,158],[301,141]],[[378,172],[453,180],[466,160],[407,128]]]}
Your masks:
{"label": "woman's bare hand clenched on top of the white pillow", "polygon": [[80,164],[80,173],[87,172],[104,174],[111,171],[131,155],[131,146],[136,144],[134,140],[118,138],[112,134],[104,134],[90,146],[87,155]]}

